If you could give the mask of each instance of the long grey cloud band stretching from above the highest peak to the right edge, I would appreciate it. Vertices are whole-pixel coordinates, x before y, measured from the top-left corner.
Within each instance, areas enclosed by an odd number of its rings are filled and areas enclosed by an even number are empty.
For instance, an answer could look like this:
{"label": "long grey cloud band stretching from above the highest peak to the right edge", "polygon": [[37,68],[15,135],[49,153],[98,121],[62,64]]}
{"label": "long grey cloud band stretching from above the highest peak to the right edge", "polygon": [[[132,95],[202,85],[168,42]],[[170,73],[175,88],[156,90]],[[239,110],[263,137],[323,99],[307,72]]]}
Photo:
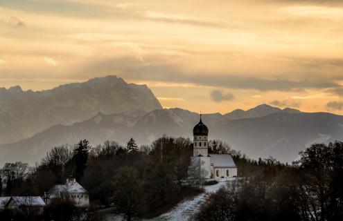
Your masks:
{"label": "long grey cloud band stretching from above the highest peak to the right edge", "polygon": [[[159,65],[156,65],[159,64]],[[136,79],[144,81],[166,81],[173,83],[192,83],[200,86],[213,86],[236,89],[255,89],[261,91],[289,91],[306,89],[327,89],[336,90],[339,84],[333,79],[316,78],[302,79],[298,81],[289,79],[265,79],[259,77],[245,77],[240,75],[213,74],[213,73],[184,73],[175,66],[163,62],[154,61],[143,64],[139,59],[124,57],[120,59],[108,59],[101,61],[90,61],[89,65],[82,70],[85,73],[120,74],[126,79]],[[81,74],[81,73],[80,73]],[[253,74],[252,74],[253,75]],[[81,77],[81,76],[78,76]]]}

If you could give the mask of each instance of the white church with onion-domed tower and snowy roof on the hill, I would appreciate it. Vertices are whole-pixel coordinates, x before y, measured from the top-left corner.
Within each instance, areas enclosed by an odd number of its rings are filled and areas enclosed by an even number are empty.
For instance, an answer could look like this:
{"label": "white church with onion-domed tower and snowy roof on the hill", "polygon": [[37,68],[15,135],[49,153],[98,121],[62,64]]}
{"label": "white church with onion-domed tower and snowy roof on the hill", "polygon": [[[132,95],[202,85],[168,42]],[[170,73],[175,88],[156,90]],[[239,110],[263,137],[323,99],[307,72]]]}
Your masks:
{"label": "white church with onion-domed tower and snowy roof on the hill", "polygon": [[190,177],[229,180],[237,177],[237,166],[231,154],[209,154],[209,129],[200,122],[193,128],[193,157],[189,169]]}

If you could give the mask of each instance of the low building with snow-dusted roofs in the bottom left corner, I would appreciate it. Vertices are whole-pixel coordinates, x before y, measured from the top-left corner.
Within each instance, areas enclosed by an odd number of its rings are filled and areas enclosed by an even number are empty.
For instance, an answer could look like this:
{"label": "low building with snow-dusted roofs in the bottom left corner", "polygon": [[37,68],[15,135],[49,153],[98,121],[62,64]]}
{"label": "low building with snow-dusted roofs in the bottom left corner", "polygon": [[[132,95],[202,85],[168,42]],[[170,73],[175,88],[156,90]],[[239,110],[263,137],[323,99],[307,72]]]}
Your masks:
{"label": "low building with snow-dusted roofs in the bottom left corner", "polygon": [[11,196],[0,198],[0,209],[20,209],[24,212],[42,214],[46,204],[40,196]]}

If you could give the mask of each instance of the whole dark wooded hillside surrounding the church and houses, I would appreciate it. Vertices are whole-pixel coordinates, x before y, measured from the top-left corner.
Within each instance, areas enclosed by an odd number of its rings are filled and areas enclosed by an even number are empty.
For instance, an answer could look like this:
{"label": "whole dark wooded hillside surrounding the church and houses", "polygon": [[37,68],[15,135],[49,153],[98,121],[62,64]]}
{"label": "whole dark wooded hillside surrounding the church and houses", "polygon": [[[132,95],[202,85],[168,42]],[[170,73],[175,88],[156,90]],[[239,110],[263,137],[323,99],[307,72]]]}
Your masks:
{"label": "whole dark wooded hillside surrounding the church and houses", "polygon": [[[202,193],[206,183],[187,182],[191,140],[163,136],[149,146],[104,142],[56,146],[35,166],[6,163],[0,195],[44,195],[68,177],[89,191],[87,211],[69,199],[55,200],[34,215],[0,211],[1,220],[103,220],[121,213],[125,220],[154,218],[178,202]],[[219,140],[209,153],[231,153],[238,178],[206,196],[193,220],[342,220],[343,143],[313,144],[299,160],[253,160]],[[106,211],[106,212],[104,212]]]}

